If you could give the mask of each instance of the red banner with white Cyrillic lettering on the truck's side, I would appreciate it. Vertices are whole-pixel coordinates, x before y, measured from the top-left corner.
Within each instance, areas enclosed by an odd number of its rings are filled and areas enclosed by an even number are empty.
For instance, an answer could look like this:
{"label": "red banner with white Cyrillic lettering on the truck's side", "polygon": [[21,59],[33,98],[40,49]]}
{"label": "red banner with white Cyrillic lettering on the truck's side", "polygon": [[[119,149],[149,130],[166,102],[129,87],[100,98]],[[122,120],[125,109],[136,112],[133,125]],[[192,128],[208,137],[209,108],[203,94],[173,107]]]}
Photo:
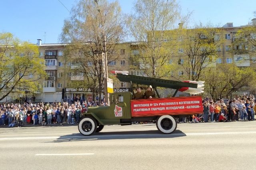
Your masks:
{"label": "red banner with white Cyrillic lettering on the truck's side", "polygon": [[131,100],[132,117],[199,114],[203,112],[201,96]]}

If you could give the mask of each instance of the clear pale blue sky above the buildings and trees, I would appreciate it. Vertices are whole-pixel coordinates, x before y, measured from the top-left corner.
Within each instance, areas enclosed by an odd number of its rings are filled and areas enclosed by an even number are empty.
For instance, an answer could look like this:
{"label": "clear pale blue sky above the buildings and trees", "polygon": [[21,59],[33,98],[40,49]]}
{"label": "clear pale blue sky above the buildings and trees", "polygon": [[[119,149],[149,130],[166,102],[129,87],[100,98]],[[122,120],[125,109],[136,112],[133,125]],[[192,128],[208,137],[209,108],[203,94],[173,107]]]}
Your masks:
{"label": "clear pale blue sky above the buildings and trees", "polygon": [[[114,1],[114,0],[108,0]],[[132,11],[134,0],[118,0],[122,12]],[[189,24],[200,22],[223,26],[246,25],[254,18],[256,0],[177,0],[182,14],[192,12]],[[36,44],[59,43],[64,19],[77,0],[0,0],[0,32],[11,32],[23,41]],[[63,5],[62,5],[62,4]],[[66,9],[67,8],[67,9]]]}

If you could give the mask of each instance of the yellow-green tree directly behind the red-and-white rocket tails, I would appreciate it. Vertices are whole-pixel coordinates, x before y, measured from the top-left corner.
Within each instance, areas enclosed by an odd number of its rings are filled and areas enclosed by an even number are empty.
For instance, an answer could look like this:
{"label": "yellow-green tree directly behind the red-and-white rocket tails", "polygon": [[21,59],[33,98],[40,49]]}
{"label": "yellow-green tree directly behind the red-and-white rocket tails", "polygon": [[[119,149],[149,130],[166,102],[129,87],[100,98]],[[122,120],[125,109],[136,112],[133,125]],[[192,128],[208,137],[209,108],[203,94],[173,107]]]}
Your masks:
{"label": "yellow-green tree directly behind the red-and-white rocket tails", "polygon": [[175,39],[178,40],[176,55],[181,64],[184,76],[188,80],[198,81],[204,70],[216,66],[218,48],[222,45],[224,37],[222,30],[213,27],[197,27],[194,29],[177,29]]}

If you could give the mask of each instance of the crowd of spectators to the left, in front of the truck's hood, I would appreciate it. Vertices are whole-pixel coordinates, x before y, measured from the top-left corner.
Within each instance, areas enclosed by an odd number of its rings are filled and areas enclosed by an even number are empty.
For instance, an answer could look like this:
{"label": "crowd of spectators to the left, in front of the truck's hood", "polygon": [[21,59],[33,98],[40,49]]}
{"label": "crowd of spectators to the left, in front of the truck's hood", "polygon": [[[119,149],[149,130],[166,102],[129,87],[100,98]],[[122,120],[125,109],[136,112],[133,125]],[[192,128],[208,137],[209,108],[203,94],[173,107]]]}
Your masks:
{"label": "crowd of spectators to the left, in front of the truck's hood", "polygon": [[0,104],[0,126],[21,127],[24,124],[75,124],[87,112],[90,106],[108,106],[101,102],[78,101],[70,104],[63,103],[24,103]]}

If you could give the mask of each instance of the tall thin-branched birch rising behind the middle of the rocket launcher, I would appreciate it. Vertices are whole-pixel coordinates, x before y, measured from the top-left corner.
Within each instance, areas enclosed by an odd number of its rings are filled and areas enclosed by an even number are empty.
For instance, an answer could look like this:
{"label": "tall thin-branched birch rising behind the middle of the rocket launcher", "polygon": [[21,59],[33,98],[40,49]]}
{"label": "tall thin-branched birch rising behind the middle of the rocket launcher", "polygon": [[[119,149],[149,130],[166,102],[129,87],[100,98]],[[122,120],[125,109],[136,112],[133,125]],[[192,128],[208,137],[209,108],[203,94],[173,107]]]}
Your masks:
{"label": "tall thin-branched birch rising behind the middle of the rocket launcher", "polygon": [[134,14],[127,17],[126,25],[136,42],[132,63],[146,76],[165,77],[170,70],[162,66],[170,60],[172,48],[164,47],[168,36],[164,32],[174,28],[180,19],[180,6],[175,0],[138,0]]}

